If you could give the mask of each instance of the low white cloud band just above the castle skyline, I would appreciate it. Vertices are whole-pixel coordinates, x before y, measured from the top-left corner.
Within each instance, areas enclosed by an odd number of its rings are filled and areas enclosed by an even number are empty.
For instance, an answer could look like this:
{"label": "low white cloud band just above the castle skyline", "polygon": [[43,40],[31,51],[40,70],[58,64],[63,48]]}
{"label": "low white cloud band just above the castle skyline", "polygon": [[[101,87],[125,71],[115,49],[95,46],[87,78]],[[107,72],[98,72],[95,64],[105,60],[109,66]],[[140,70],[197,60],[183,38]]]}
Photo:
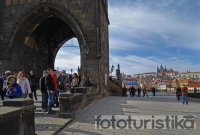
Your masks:
{"label": "low white cloud band just above the castle skyline", "polygon": [[188,59],[178,57],[157,58],[139,57],[135,55],[111,56],[110,66],[116,66],[117,64],[120,64],[121,72],[124,72],[125,74],[156,72],[157,66],[160,66],[160,64],[179,72],[185,72],[188,69],[191,71],[199,71],[200,67],[200,64],[195,64]]}

